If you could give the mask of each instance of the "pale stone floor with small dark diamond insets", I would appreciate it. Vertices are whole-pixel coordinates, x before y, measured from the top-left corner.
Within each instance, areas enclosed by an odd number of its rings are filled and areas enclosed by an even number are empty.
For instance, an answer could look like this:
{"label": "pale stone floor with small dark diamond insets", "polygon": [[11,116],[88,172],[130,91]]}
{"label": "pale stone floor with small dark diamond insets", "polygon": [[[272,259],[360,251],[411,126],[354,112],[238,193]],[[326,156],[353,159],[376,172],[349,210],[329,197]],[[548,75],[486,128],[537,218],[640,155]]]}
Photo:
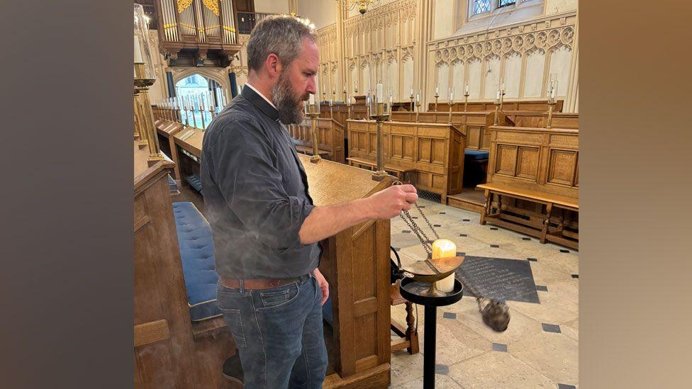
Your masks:
{"label": "pale stone floor with small dark diamond insets", "polygon": [[[480,215],[419,199],[440,238],[451,239],[469,256],[527,260],[540,304],[508,300],[510,323],[505,332],[484,325],[476,301],[464,295],[458,303],[437,309],[436,388],[578,388],[579,387],[579,252],[490,225]],[[443,212],[440,214],[440,212]],[[418,211],[412,216],[432,236]],[[468,221],[463,221],[464,219]],[[391,220],[391,245],[401,253],[424,258],[418,238],[401,218]],[[461,236],[465,235],[465,236]],[[434,239],[434,237],[431,237]],[[491,247],[496,245],[498,247]],[[561,252],[562,250],[562,252]],[[567,252],[565,252],[567,251]],[[404,259],[402,258],[402,261]],[[406,323],[405,305],[391,316]],[[445,315],[446,313],[446,315]],[[420,354],[405,350],[391,356],[391,388],[423,388],[423,307],[418,307]]]}

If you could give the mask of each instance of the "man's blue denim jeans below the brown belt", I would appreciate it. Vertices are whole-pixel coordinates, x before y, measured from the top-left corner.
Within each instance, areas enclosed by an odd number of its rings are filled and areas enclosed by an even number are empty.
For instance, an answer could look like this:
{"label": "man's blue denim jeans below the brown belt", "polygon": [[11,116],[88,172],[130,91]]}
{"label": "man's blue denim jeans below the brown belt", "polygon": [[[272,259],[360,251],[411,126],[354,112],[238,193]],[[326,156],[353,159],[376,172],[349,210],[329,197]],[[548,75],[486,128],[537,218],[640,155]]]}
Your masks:
{"label": "man's blue denim jeans below the brown belt", "polygon": [[238,347],[246,389],[322,388],[327,348],[314,276],[279,288],[218,284],[218,307]]}

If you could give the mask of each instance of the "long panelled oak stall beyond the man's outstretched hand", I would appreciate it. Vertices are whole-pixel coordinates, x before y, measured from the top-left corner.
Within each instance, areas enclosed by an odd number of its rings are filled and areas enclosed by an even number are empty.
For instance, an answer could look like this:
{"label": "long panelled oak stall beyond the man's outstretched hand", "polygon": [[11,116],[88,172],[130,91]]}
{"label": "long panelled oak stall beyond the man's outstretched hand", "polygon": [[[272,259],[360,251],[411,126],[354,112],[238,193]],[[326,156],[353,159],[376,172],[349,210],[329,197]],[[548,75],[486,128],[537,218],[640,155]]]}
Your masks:
{"label": "long panelled oak stall beyond the man's outstretched hand", "polygon": [[[348,138],[352,164],[376,161],[374,121],[348,120]],[[447,203],[447,195],[462,191],[466,136],[454,125],[386,122],[383,138],[385,168],[413,169],[415,186],[440,194],[442,204]]]}

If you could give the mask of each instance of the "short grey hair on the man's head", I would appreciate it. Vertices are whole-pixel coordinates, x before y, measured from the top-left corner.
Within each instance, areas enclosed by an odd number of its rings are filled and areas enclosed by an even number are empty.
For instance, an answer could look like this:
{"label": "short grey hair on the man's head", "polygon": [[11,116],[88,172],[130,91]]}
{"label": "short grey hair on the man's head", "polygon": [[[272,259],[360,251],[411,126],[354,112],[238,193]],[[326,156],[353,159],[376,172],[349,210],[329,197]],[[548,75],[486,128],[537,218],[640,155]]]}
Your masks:
{"label": "short grey hair on the man's head", "polygon": [[259,70],[272,52],[288,67],[303,48],[303,38],[317,42],[315,30],[290,15],[272,15],[252,29],[247,41],[247,69]]}

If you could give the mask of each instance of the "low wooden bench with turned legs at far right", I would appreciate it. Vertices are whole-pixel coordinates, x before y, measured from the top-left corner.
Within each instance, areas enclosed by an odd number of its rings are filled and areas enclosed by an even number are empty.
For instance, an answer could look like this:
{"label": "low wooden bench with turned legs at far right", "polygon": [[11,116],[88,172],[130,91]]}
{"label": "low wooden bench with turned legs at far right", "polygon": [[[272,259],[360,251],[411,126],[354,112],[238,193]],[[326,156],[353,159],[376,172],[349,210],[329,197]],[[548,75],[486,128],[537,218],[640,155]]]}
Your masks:
{"label": "low wooden bench with turned legs at far right", "polygon": [[[477,186],[477,188],[484,189],[486,197],[484,213],[481,213],[481,225],[485,225],[486,222],[489,222],[492,225],[499,225],[501,227],[518,230],[519,232],[522,232],[526,235],[531,235],[540,238],[541,243],[551,241],[556,242],[558,244],[562,244],[567,247],[571,247],[573,249],[579,249],[578,242],[575,243],[573,240],[565,239],[561,236],[564,234],[569,237],[579,239],[578,233],[570,233],[569,231],[564,230],[565,220],[563,215],[561,215],[559,218],[557,231],[554,234],[549,233],[549,225],[552,218],[553,208],[562,208],[565,210],[573,210],[575,212],[579,212],[579,199],[554,195],[550,193],[543,193],[539,191],[530,191],[528,189],[514,188],[511,186],[503,186],[498,184],[481,184]],[[498,196],[496,208],[493,208],[492,206],[493,194],[496,194]],[[546,215],[545,219],[543,220],[543,226],[540,232],[537,232],[536,230],[530,227],[525,227],[523,225],[517,225],[513,222],[502,220],[501,216],[503,216],[504,218],[513,218],[510,215],[502,215],[502,196],[518,198],[520,200],[528,200],[545,205]]]}

